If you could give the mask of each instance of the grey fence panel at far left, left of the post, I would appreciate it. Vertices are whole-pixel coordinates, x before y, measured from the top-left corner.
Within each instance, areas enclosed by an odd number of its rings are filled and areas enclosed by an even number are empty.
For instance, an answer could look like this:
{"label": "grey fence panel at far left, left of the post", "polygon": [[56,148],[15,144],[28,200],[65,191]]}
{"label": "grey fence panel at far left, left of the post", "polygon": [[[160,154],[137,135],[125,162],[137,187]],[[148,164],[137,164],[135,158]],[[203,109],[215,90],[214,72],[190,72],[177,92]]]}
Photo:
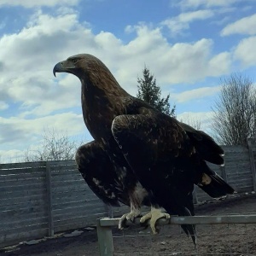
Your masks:
{"label": "grey fence panel at far left, left of the post", "polygon": [[1,165],[0,244],[48,234],[44,163]]}

